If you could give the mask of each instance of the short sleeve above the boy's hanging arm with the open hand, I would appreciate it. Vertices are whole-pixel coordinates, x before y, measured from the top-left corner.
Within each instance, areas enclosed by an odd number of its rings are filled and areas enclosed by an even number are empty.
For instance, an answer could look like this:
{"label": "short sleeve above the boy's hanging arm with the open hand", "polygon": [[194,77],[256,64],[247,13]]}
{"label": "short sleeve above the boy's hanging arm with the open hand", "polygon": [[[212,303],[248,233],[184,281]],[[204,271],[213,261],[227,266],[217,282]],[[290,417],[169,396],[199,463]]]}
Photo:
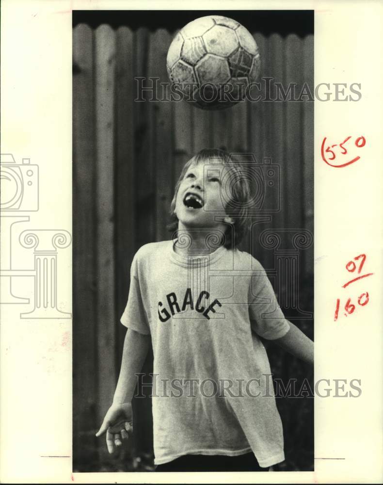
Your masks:
{"label": "short sleeve above the boy's hanging arm with the open hand", "polygon": [[[141,279],[142,278],[143,276],[141,276]],[[134,256],[130,267],[128,303],[122,314],[121,323],[141,334],[150,334],[150,327],[144,307],[142,287],[140,285],[137,254]]]}

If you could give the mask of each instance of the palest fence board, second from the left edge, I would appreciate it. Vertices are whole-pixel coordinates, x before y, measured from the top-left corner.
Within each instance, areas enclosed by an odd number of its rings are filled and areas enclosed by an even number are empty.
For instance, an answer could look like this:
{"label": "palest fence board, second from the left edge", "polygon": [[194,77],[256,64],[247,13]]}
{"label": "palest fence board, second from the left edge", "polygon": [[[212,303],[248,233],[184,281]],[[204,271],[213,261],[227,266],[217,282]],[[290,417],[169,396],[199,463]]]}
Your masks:
{"label": "palest fence board, second from the left edge", "polygon": [[[114,321],[114,67],[115,33],[95,31],[96,211],[97,211],[97,362],[98,419],[101,422],[115,389]],[[105,451],[105,446],[100,448]]]}

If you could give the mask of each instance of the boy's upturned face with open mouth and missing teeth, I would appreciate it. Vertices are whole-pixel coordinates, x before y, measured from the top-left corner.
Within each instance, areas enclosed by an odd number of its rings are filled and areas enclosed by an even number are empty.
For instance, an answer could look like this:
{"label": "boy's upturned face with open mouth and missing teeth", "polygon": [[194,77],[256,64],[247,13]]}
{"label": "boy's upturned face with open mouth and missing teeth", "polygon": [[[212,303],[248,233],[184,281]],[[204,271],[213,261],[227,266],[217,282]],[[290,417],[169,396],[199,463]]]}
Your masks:
{"label": "boy's upturned face with open mouth and missing teeth", "polygon": [[225,171],[223,163],[207,161],[191,164],[176,196],[176,216],[182,226],[221,229],[224,232],[222,222],[226,214],[221,181]]}

